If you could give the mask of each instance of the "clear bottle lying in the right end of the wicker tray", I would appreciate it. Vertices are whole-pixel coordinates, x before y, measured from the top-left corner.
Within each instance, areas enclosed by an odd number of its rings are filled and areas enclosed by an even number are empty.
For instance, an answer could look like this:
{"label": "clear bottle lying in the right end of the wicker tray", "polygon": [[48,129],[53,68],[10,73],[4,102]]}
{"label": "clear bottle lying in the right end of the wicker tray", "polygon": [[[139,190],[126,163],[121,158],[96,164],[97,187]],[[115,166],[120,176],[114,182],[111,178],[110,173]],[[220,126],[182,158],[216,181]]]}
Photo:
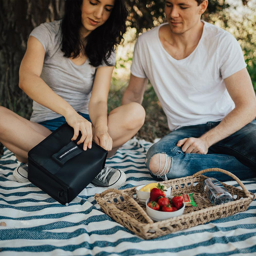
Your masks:
{"label": "clear bottle lying in the right end of the wicker tray", "polygon": [[234,200],[228,190],[215,178],[204,180],[203,192],[213,205],[224,204]]}

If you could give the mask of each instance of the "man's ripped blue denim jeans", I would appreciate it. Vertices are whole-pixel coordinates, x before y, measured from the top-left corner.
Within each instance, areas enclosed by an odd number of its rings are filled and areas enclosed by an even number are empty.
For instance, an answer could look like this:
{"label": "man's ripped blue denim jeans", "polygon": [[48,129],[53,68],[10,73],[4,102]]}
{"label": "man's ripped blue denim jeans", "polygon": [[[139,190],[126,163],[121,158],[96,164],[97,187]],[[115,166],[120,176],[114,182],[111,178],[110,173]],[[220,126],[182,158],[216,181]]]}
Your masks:
{"label": "man's ripped blue denim jeans", "polygon": [[[184,153],[176,144],[179,140],[189,137],[198,138],[211,130],[220,122],[181,127],[153,144],[145,159],[151,176],[157,180],[176,179],[190,176],[207,168],[221,168],[232,172],[240,180],[256,177],[256,121],[245,125],[239,131],[212,145],[206,155]],[[165,159],[165,166],[154,175],[149,169],[152,156],[161,155]],[[162,158],[163,159],[163,158]],[[163,171],[165,174],[163,174]],[[156,173],[156,172],[155,172]],[[207,172],[205,176],[215,177],[220,181],[231,180],[221,172]]]}

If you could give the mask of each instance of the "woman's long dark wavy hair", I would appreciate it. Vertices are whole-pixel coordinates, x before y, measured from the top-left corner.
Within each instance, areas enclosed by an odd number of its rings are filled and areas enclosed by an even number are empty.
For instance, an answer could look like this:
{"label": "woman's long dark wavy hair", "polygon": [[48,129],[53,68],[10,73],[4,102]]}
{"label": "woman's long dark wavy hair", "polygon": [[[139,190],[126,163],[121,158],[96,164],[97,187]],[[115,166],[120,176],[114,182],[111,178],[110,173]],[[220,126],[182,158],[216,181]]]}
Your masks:
{"label": "woman's long dark wavy hair", "polygon": [[61,22],[61,51],[64,52],[64,57],[76,58],[84,48],[85,55],[89,58],[92,66],[99,66],[102,60],[110,66],[111,63],[107,59],[110,57],[114,46],[120,44],[126,31],[125,21],[128,12],[124,0],[115,0],[108,20],[87,36],[85,47],[79,37],[79,29],[82,26],[82,3],[83,0],[65,1],[65,14]]}

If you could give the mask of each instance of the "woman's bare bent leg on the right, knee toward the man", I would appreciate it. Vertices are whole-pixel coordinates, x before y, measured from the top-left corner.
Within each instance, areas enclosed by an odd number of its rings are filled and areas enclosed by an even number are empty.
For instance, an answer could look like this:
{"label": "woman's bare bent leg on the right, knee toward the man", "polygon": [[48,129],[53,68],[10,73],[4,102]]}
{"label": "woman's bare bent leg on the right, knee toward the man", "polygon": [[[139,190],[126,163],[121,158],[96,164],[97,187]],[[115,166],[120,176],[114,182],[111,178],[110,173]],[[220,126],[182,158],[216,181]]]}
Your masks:
{"label": "woman's bare bent leg on the right, knee toward the man", "polygon": [[141,128],[145,121],[145,110],[136,102],[131,102],[113,109],[108,115],[108,134],[113,140],[113,149],[108,157],[130,140]]}

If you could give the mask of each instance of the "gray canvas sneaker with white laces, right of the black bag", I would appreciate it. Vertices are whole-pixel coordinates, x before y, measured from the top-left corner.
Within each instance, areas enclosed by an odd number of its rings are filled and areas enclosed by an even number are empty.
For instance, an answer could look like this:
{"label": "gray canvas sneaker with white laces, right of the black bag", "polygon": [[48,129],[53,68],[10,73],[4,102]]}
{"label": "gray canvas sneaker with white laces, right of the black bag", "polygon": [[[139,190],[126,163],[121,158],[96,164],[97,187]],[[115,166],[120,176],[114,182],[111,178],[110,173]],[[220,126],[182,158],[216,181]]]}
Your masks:
{"label": "gray canvas sneaker with white laces, right of the black bag", "polygon": [[126,180],[123,171],[105,166],[103,170],[92,180],[96,187],[103,188],[120,188]]}

